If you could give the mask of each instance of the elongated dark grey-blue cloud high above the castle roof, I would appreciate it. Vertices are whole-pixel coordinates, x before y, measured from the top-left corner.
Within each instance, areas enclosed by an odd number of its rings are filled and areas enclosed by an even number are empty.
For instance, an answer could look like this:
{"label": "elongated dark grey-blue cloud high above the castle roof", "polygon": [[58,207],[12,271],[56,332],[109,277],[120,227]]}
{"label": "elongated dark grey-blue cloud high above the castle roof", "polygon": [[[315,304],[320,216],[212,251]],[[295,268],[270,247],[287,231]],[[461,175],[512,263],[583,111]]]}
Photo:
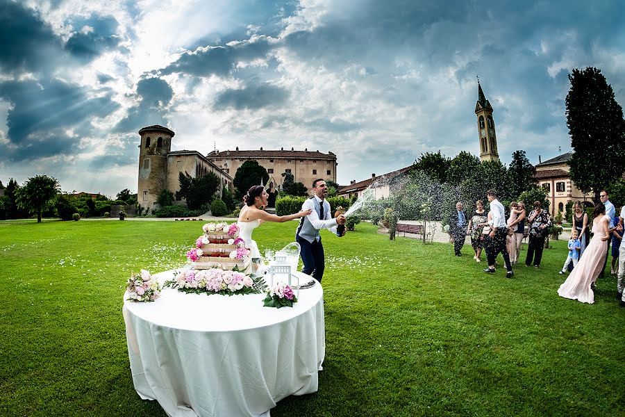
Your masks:
{"label": "elongated dark grey-blue cloud high above the castle roof", "polygon": [[183,73],[192,76],[228,76],[236,63],[265,58],[271,50],[272,45],[264,37],[253,42],[207,47],[206,50],[185,52],[174,63],[158,71],[158,73],[163,75]]}

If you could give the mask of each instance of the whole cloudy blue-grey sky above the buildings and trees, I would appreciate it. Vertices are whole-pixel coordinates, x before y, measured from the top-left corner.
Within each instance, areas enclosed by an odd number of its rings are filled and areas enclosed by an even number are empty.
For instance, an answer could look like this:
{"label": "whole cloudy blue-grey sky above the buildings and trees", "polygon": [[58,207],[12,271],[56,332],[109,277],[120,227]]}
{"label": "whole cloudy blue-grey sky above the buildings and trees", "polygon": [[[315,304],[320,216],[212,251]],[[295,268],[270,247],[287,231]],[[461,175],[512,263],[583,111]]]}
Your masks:
{"label": "whole cloudy blue-grey sky above the buildings and trees", "polygon": [[625,2],[0,0],[0,181],[137,190],[142,126],[172,150],[313,149],[338,182],[478,154],[476,75],[501,159],[570,149],[567,74],[625,105]]}

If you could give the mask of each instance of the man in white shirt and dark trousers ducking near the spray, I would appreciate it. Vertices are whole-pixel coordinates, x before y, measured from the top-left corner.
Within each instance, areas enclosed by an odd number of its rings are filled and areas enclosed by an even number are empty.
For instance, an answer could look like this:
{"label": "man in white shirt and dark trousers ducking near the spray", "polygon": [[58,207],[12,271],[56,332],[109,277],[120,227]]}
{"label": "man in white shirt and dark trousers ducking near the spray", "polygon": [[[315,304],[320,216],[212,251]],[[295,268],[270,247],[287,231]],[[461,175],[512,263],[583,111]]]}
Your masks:
{"label": "man in white shirt and dark trousers ducking near the spray", "polygon": [[490,234],[486,237],[486,259],[488,260],[488,268],[485,268],[484,272],[488,274],[494,274],[494,262],[497,255],[501,253],[503,261],[506,263],[506,278],[512,278],[515,273],[512,272],[512,265],[510,264],[510,255],[506,249],[506,235],[508,234],[508,227],[506,224],[506,212],[503,211],[503,204],[497,199],[497,191],[488,190],[488,201],[490,202],[490,214],[491,219],[488,221],[490,225]]}

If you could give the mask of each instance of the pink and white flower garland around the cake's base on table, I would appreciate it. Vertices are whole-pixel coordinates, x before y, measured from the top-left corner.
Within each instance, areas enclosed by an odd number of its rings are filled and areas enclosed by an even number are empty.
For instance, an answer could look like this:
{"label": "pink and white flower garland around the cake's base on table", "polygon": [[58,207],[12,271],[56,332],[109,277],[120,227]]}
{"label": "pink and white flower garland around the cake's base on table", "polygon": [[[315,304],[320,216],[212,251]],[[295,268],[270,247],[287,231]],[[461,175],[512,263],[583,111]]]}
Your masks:
{"label": "pink and white flower garland around the cake's base on table", "polygon": [[251,277],[243,272],[211,268],[208,270],[184,270],[174,279],[165,281],[163,288],[178,288],[183,293],[200,294],[260,294],[267,285],[261,277]]}

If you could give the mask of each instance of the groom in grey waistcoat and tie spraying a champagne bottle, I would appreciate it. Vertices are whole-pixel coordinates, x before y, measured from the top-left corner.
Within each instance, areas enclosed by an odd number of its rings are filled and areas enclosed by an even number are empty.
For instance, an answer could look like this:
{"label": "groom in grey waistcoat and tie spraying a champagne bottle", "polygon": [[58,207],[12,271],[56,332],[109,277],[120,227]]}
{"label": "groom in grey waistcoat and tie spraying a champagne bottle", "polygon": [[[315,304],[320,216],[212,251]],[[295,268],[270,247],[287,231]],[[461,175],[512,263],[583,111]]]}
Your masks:
{"label": "groom in grey waistcoat and tie spraying a champagne bottle", "polygon": [[321,282],[324,276],[324,268],[326,260],[324,258],[324,246],[319,236],[319,230],[328,229],[337,236],[343,236],[336,231],[337,224],[345,224],[345,216],[339,215],[333,218],[330,213],[330,203],[326,201],[328,197],[328,186],[323,179],[315,179],[313,181],[313,197],[307,199],[302,205],[302,210],[313,211],[306,217],[301,218],[295,241],[299,243],[301,250],[299,252],[304,267],[301,272],[313,275],[313,278]]}

